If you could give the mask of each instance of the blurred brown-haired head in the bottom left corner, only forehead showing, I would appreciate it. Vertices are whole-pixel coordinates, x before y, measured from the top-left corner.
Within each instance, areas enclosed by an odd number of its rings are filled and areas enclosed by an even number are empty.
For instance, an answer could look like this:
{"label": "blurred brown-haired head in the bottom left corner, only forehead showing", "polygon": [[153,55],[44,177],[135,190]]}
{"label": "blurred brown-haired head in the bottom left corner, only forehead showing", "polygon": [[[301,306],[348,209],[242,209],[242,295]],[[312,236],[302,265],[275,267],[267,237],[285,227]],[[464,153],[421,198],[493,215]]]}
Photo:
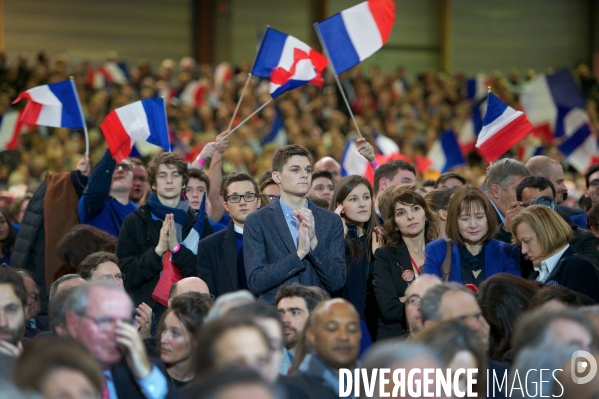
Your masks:
{"label": "blurred brown-haired head in the bottom left corner, only forehead showing", "polygon": [[67,338],[36,338],[17,360],[15,384],[45,399],[98,398],[104,378],[98,363],[79,342]]}

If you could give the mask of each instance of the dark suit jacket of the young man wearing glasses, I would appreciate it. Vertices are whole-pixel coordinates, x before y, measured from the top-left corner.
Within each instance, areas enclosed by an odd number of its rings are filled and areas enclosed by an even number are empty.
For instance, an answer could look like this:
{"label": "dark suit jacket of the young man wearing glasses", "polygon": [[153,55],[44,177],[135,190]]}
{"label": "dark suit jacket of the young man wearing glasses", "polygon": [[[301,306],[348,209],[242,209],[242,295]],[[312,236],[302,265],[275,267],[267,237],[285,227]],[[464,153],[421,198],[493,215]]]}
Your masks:
{"label": "dark suit jacket of the young man wearing glasses", "polygon": [[225,230],[206,237],[198,246],[198,275],[216,297],[240,289],[234,226],[231,220]]}

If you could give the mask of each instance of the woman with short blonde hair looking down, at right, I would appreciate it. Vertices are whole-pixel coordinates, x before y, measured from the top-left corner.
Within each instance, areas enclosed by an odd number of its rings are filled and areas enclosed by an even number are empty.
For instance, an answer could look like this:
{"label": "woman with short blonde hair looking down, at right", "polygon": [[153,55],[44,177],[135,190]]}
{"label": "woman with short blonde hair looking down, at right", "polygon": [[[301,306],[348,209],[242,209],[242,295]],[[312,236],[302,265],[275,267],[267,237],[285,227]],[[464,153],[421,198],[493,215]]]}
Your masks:
{"label": "woman with short blonde hair looking down, at right", "polygon": [[572,229],[555,211],[531,205],[512,221],[512,240],[533,264],[530,279],[599,301],[599,270],[569,244]]}

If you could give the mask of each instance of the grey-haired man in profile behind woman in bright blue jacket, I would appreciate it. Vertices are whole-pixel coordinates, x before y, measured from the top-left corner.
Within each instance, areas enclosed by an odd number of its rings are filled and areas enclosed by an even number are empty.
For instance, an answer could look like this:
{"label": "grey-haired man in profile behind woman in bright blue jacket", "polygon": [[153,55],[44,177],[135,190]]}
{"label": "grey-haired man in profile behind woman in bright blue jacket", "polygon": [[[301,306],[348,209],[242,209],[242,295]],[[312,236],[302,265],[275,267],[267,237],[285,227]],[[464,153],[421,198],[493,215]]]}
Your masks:
{"label": "grey-haired man in profile behind woman in bright blue jacket", "polygon": [[516,187],[528,176],[530,170],[526,165],[509,158],[494,162],[487,169],[485,194],[495,208],[498,224],[504,223],[505,218],[514,212],[519,212],[514,210],[520,204],[516,201]]}

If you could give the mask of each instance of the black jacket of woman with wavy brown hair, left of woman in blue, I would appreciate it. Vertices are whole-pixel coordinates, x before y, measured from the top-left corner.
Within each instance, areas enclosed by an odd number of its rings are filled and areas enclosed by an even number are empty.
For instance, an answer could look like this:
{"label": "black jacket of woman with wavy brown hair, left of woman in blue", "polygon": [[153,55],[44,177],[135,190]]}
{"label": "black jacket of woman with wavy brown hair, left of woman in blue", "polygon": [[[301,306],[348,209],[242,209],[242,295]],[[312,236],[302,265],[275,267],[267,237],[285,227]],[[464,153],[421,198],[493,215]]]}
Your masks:
{"label": "black jacket of woman with wavy brown hair, left of woman in blue", "polygon": [[404,270],[414,272],[405,245],[381,247],[374,253],[372,285],[380,311],[377,340],[400,336],[407,328],[404,302],[399,300],[408,289],[408,282],[401,277]]}

